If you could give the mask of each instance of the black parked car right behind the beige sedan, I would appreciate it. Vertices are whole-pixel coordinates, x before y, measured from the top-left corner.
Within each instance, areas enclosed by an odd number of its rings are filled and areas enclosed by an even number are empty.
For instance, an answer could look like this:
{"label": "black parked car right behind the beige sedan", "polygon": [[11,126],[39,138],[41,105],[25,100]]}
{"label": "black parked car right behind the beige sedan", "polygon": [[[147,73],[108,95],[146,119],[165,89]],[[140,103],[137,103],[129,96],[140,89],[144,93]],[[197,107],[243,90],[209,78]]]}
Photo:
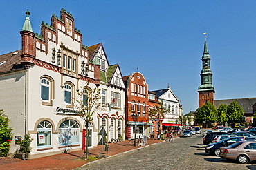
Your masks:
{"label": "black parked car right behind the beige sedan", "polygon": [[[220,140],[219,142],[206,145],[205,153],[210,153],[210,154],[214,154],[215,156],[219,156],[220,147],[227,147],[228,145],[238,142],[239,140],[241,140],[241,138],[242,137],[240,136],[230,137],[230,138],[225,138],[223,140]],[[250,138],[250,137],[246,137],[246,140],[256,141],[255,138]]]}

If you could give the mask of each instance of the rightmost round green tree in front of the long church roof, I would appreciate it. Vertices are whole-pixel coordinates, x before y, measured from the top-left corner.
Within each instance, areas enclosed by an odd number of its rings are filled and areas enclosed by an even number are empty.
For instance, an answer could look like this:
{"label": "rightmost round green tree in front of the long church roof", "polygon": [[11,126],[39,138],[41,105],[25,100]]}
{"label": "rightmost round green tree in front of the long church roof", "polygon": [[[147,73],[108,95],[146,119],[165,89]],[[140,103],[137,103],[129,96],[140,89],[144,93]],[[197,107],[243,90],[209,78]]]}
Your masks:
{"label": "rightmost round green tree in front of the long church roof", "polygon": [[235,123],[240,122],[244,118],[244,110],[241,105],[237,103],[237,101],[233,101],[228,105],[227,108],[227,116],[228,116],[228,122],[231,123],[232,126],[235,125]]}

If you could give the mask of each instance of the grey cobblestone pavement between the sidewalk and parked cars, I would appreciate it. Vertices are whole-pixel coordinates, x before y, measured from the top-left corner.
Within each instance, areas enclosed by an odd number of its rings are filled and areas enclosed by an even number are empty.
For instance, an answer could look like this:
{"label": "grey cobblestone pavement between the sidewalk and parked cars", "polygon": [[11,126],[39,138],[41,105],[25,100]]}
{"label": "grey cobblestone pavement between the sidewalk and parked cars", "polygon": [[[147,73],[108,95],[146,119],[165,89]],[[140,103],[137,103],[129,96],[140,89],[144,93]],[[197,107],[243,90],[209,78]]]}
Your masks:
{"label": "grey cobblestone pavement between the sidewalk and parked cars", "polygon": [[[205,153],[201,134],[129,151],[78,169],[256,169],[256,162],[238,164]],[[77,169],[76,169],[77,170]]]}

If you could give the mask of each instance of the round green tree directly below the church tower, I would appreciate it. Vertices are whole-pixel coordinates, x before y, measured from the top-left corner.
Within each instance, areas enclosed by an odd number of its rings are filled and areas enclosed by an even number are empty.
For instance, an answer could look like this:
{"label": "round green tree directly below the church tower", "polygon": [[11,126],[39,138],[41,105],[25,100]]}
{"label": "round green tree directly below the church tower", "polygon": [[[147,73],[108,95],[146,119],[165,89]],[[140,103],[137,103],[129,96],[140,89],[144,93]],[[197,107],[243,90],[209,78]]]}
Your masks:
{"label": "round green tree directly below the church tower", "polygon": [[214,123],[217,120],[216,109],[209,101],[201,106],[196,113],[196,123]]}

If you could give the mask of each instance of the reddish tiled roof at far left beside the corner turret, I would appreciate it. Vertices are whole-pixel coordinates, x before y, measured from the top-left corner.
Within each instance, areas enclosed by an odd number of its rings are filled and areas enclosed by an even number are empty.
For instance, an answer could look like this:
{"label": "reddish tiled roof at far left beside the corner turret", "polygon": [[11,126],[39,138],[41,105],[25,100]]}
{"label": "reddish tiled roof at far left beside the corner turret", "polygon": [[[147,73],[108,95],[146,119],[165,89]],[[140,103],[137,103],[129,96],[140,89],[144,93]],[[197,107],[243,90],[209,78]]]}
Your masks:
{"label": "reddish tiled roof at far left beside the corner turret", "polygon": [[24,67],[24,65],[21,65],[21,50],[1,55],[0,62],[3,61],[5,61],[5,63],[0,65],[0,73],[21,69]]}

